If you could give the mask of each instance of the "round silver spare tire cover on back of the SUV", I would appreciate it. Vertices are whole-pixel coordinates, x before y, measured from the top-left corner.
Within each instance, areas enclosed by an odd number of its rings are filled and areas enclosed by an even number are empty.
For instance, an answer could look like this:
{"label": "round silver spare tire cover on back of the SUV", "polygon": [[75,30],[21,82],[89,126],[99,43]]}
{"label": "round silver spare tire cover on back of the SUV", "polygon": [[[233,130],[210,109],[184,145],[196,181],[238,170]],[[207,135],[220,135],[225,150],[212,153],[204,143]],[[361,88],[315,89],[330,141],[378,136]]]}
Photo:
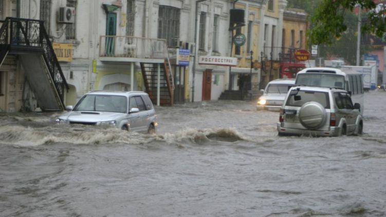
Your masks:
{"label": "round silver spare tire cover on back of the SUV", "polygon": [[326,111],[319,102],[306,102],[299,110],[300,123],[307,129],[320,128],[325,119]]}

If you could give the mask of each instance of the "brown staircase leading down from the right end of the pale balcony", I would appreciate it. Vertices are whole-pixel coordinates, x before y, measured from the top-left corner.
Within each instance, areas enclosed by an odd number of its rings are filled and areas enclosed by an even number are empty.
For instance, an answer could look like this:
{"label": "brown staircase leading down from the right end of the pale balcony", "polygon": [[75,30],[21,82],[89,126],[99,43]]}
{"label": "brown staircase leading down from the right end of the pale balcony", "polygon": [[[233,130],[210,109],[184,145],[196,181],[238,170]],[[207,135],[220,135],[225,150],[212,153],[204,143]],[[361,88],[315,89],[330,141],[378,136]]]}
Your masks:
{"label": "brown staircase leading down from the right end of the pale balcony", "polygon": [[[158,64],[141,62],[143,83],[146,92],[154,104],[157,104]],[[169,62],[166,59],[160,65],[159,102],[160,105],[173,105],[173,76],[170,73]]]}

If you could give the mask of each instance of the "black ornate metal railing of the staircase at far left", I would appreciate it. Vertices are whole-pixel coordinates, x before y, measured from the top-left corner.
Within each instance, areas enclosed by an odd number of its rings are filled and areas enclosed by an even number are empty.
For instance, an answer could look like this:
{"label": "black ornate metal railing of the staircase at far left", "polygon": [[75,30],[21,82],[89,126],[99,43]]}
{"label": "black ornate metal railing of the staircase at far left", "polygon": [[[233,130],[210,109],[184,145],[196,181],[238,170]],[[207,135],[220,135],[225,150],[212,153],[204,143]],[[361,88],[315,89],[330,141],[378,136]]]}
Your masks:
{"label": "black ornate metal railing of the staircase at far left", "polygon": [[68,84],[43,25],[44,21],[7,17],[0,28],[0,44],[43,48],[43,58],[64,105],[64,87]]}

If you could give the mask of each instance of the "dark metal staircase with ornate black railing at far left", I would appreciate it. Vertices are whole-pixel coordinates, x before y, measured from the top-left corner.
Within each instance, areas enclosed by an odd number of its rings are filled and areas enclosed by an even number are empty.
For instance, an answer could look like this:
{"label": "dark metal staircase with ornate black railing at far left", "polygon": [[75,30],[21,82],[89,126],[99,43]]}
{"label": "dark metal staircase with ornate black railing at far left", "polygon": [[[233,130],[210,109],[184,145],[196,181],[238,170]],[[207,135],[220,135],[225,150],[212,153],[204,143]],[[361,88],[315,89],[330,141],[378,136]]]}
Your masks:
{"label": "dark metal staircase with ornate black railing at far left", "polygon": [[7,17],[0,28],[0,67],[7,55],[20,57],[28,83],[43,111],[64,110],[68,84],[43,21]]}

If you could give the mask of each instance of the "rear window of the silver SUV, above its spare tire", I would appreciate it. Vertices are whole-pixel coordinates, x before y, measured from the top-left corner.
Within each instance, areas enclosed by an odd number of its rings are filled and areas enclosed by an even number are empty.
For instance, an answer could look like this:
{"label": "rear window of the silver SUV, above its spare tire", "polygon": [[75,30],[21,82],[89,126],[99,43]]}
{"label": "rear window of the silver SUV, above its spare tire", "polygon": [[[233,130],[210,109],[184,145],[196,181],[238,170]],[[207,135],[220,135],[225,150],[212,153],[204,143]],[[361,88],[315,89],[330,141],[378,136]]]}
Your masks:
{"label": "rear window of the silver SUV, above its spare tire", "polygon": [[306,102],[319,102],[324,108],[330,108],[327,92],[296,91],[293,90],[287,99],[286,105],[302,106]]}

